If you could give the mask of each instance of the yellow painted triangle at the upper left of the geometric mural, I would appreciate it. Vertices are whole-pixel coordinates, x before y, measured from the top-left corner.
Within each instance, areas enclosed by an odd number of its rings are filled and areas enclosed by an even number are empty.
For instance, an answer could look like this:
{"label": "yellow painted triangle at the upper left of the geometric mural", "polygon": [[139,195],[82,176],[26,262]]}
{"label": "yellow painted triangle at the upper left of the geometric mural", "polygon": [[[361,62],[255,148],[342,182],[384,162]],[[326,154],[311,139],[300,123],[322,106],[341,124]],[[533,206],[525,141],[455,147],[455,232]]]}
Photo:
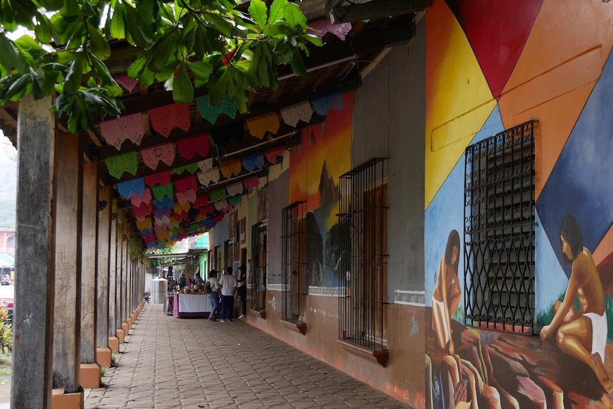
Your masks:
{"label": "yellow painted triangle at the upper left of the geometric mural", "polygon": [[426,15],[425,208],[481,129],[496,100],[443,0]]}

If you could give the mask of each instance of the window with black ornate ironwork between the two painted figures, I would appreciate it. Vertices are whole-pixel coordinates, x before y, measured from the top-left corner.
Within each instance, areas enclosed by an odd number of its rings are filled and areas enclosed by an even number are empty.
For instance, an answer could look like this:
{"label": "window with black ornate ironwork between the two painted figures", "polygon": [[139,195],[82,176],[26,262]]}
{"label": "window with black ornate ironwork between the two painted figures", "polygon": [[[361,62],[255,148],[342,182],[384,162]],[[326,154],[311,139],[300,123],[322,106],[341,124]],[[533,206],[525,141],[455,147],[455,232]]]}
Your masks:
{"label": "window with black ornate ironwork between the two painted figures", "polygon": [[533,121],[467,147],[467,325],[534,329],[534,158]]}

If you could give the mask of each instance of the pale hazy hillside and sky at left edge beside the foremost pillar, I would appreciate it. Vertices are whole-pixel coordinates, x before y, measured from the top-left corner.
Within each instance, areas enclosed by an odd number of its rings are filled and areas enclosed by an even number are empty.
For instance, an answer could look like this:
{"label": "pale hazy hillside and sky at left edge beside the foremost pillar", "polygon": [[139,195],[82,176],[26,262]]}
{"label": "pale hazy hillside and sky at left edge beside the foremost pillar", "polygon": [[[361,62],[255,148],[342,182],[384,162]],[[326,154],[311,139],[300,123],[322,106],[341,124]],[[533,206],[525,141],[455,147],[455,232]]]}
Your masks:
{"label": "pale hazy hillside and sky at left edge beside the foremost pillar", "polygon": [[17,199],[17,152],[0,134],[0,225],[15,225]]}

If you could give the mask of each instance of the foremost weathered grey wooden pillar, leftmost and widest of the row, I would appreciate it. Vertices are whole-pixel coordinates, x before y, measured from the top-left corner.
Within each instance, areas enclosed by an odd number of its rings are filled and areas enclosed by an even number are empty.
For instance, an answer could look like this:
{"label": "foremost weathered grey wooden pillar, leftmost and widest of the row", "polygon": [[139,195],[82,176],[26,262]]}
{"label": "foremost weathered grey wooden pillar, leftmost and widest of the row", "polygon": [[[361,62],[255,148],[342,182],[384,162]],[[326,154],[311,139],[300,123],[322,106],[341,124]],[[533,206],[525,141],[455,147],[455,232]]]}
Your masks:
{"label": "foremost weathered grey wooden pillar, leftmost and widest of the row", "polygon": [[51,98],[21,98],[17,124],[18,184],[11,408],[51,407],[53,366],[53,173]]}

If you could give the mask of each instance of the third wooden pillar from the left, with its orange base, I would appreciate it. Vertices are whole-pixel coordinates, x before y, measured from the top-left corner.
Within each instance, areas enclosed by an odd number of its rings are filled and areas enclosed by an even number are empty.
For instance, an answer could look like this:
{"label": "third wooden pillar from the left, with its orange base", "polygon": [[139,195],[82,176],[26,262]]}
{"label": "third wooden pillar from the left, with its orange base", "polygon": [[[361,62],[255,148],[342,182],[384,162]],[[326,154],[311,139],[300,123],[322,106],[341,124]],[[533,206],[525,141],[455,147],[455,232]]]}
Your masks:
{"label": "third wooden pillar from the left, with its orange base", "polygon": [[80,385],[100,387],[96,362],[98,161],[83,164],[81,219]]}

